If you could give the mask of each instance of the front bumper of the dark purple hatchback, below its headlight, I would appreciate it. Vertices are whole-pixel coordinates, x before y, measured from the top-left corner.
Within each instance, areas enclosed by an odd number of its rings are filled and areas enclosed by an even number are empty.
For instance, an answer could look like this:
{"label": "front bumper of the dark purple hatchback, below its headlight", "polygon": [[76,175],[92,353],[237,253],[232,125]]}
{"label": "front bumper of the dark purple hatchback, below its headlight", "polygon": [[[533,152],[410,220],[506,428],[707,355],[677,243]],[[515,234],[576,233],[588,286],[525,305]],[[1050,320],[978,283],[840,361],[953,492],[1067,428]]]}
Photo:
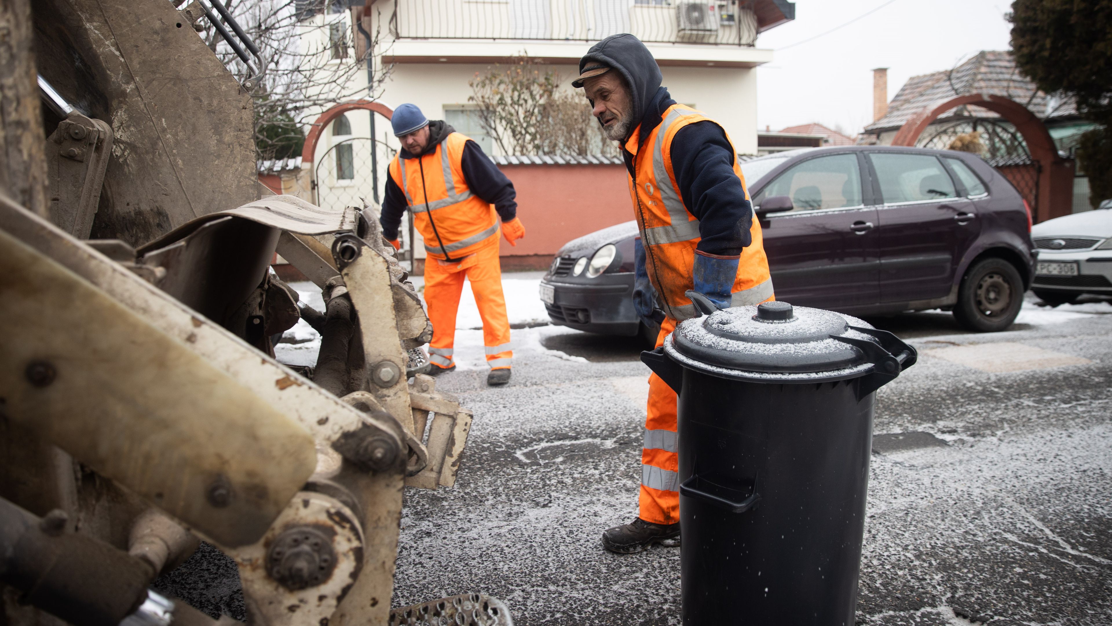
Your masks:
{"label": "front bumper of the dark purple hatchback, below its headlight", "polygon": [[554,302],[545,303],[553,324],[609,335],[635,335],[639,326],[633,307],[633,273],[603,274],[586,282],[565,283],[548,278]]}

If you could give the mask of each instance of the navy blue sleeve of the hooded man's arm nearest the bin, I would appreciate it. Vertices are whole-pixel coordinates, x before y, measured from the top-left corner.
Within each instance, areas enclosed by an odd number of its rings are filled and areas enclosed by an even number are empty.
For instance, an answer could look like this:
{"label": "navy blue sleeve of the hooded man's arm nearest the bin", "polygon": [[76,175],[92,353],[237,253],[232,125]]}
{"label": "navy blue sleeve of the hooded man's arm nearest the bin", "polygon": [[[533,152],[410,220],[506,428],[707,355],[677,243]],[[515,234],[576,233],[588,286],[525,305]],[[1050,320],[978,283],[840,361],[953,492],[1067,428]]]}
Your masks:
{"label": "navy blue sleeve of the hooded man's arm nearest the bin", "polygon": [[696,121],[679,129],[672,140],[672,172],[684,206],[699,221],[696,250],[736,256],[749,245],[753,204],[734,174],[734,148],[713,121]]}

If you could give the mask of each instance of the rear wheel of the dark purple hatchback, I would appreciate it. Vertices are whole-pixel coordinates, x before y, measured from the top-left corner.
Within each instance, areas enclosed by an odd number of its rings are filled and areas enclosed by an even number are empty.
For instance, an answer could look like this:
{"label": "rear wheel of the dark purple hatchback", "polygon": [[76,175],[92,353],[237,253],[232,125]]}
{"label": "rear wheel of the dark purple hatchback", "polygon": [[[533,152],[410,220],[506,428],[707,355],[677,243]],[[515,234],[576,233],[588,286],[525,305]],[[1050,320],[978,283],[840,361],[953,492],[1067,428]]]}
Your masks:
{"label": "rear wheel of the dark purple hatchback", "polygon": [[965,271],[954,317],[971,331],[993,333],[1012,325],[1023,305],[1023,278],[1003,258],[984,258]]}

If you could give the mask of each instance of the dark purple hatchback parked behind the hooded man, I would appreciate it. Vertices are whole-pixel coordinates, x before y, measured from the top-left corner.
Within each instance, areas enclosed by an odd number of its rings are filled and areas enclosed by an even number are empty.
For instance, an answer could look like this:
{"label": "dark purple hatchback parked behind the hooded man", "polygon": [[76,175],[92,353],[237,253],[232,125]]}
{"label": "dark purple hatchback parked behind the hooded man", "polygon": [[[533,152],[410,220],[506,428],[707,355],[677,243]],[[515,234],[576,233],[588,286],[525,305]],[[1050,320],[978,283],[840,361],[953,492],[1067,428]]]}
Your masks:
{"label": "dark purple hatchback parked behind the hooded man", "polygon": [[[1031,284],[1031,218],[981,158],[951,150],[848,146],[747,160],[776,300],[876,315],[953,310],[975,331],[1015,320]],[[540,283],[560,325],[649,329],[633,306],[634,222],[568,242]]]}

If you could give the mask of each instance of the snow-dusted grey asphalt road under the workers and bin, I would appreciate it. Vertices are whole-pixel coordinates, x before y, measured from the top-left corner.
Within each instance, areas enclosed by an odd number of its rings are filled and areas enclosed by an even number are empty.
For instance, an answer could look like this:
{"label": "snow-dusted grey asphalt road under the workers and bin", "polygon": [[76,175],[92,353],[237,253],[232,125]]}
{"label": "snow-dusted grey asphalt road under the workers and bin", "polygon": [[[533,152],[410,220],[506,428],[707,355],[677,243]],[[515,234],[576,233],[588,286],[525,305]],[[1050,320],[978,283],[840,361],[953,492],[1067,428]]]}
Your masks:
{"label": "snow-dusted grey asphalt road under the workers and bin", "polygon": [[[506,278],[512,321],[543,315],[537,276]],[[1112,623],[1112,305],[1031,301],[995,334],[941,312],[870,321],[921,356],[877,397],[858,623]],[[407,490],[394,606],[484,591],[520,626],[678,624],[678,549],[598,540],[636,515],[638,346],[515,330],[514,379],[490,389],[477,322],[465,296],[460,369],[438,385],[475,422],[456,487]],[[206,607],[239,613],[230,564],[191,563],[216,583]]]}

